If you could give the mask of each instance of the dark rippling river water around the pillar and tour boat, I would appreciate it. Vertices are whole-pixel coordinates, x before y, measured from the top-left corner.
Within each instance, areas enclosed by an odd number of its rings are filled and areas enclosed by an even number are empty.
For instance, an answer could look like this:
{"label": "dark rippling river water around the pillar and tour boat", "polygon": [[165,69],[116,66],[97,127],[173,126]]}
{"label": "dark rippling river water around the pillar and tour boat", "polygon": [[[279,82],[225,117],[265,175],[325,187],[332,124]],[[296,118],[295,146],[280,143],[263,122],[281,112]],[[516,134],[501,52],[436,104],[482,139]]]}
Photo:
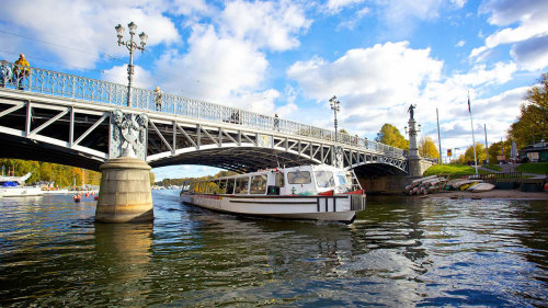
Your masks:
{"label": "dark rippling river water around the pillar and tour boat", "polygon": [[153,224],[90,197],[0,198],[2,307],[546,307],[548,202],[368,196],[353,225],[241,218],[155,191]]}

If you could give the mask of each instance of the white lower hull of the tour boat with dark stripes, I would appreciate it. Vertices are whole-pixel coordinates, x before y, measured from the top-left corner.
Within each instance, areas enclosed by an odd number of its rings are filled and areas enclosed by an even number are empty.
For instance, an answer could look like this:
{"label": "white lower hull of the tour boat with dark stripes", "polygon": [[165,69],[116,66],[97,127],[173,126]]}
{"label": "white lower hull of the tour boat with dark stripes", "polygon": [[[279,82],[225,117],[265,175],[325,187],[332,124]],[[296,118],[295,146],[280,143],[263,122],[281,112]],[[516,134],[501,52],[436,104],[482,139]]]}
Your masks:
{"label": "white lower hull of the tour boat with dark stripes", "polygon": [[363,195],[233,196],[181,194],[182,201],[203,208],[247,216],[328,220],[351,224],[365,208]]}

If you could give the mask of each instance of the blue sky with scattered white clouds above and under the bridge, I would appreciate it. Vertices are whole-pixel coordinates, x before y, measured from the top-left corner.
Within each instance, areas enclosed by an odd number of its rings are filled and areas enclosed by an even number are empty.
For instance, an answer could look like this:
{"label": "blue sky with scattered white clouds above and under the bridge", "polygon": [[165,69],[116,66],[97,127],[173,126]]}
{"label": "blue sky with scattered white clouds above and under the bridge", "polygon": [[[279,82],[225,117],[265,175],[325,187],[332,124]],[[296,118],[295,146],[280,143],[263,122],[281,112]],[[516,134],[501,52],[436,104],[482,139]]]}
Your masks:
{"label": "blue sky with scattered white clouds above and under the bridge", "polygon": [[[205,100],[374,139],[404,134],[410,104],[421,137],[442,152],[506,138],[527,89],[548,67],[541,0],[0,0],[0,57],[127,83],[129,53],[114,26],[148,34],[134,56],[138,88]],[[137,38],[137,41],[139,41]],[[459,150],[455,150],[458,148]],[[164,167],[157,180],[214,174]]]}

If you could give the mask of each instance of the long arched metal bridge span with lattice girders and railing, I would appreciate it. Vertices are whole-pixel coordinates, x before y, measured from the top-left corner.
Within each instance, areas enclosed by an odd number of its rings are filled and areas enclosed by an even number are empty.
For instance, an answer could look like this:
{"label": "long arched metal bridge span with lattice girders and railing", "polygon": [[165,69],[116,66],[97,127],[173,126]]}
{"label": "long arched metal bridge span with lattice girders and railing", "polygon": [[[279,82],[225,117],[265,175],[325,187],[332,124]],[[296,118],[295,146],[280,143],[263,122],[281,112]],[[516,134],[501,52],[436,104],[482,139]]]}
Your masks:
{"label": "long arched metal bridge span with lattice girders and railing", "polygon": [[[20,69],[5,65],[13,72]],[[202,164],[249,172],[327,163],[367,174],[408,172],[402,149],[241,109],[163,94],[156,110],[155,92],[137,88],[127,106],[127,85],[34,67],[1,84],[4,158],[99,171],[133,145],[151,167]]]}

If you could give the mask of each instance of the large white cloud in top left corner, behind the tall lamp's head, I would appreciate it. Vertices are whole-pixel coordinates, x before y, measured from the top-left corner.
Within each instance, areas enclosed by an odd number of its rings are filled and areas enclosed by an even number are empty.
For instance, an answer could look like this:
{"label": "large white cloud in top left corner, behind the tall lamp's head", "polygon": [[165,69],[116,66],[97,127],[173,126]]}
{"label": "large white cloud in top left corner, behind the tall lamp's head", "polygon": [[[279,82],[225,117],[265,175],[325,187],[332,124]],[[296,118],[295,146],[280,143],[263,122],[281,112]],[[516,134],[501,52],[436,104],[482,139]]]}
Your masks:
{"label": "large white cloud in top left corner, behind the tall lamp's head", "polygon": [[[138,33],[145,31],[149,35],[147,47],[180,41],[173,23],[153,3],[106,0],[8,1],[2,3],[0,20],[12,23],[14,32],[53,43],[41,44],[39,49],[28,50],[24,44],[26,42],[14,38],[12,45],[24,48],[30,59],[34,55],[49,53],[68,67],[93,68],[103,53],[127,57],[127,49],[116,44],[114,26],[118,23],[126,27],[127,39],[126,24],[134,21],[138,25]],[[127,16],[132,16],[130,20]]]}

